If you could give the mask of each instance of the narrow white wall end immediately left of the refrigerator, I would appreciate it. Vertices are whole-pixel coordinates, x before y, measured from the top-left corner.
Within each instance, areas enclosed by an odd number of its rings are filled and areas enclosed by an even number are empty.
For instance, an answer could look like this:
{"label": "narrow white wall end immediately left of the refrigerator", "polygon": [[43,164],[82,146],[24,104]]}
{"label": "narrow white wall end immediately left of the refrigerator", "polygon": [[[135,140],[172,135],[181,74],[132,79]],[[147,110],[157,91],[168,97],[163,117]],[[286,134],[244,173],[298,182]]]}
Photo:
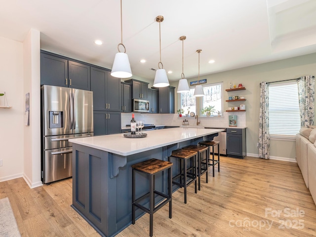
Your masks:
{"label": "narrow white wall end immediately left of the refrigerator", "polygon": [[23,42],[24,88],[30,93],[30,125],[23,126],[24,179],[31,188],[40,181],[40,32],[31,29]]}

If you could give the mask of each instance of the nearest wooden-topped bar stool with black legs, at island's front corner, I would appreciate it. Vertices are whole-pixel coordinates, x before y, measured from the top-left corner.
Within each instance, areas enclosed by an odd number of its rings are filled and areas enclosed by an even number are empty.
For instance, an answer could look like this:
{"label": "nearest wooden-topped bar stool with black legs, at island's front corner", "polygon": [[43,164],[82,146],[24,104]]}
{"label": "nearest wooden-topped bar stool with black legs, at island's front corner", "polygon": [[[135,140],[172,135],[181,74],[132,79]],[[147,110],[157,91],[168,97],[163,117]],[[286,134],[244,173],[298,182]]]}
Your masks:
{"label": "nearest wooden-topped bar stool with black legs, at island's front corner", "polygon": [[[160,193],[155,190],[155,175],[168,169],[168,195]],[[149,182],[149,192],[141,197],[135,198],[135,171],[147,174]],[[169,202],[169,218],[172,218],[172,163],[160,159],[149,159],[137,164],[132,165],[132,224],[135,224],[135,207],[142,209],[143,211],[149,213],[149,235],[153,236],[153,225],[154,225],[154,213],[158,211],[162,206]],[[155,194],[156,197],[163,197],[159,204],[155,204]],[[141,205],[139,201],[149,197],[149,208]]]}

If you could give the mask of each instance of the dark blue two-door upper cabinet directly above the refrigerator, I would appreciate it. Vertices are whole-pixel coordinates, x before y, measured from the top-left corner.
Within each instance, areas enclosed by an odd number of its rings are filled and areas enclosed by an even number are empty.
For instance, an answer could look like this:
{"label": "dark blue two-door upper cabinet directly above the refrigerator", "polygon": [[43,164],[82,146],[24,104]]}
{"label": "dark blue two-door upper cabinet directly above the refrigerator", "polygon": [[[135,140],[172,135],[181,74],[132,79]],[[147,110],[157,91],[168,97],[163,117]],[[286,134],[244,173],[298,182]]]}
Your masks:
{"label": "dark blue two-door upper cabinet directly above the refrigerator", "polygon": [[40,84],[90,90],[90,66],[41,52]]}

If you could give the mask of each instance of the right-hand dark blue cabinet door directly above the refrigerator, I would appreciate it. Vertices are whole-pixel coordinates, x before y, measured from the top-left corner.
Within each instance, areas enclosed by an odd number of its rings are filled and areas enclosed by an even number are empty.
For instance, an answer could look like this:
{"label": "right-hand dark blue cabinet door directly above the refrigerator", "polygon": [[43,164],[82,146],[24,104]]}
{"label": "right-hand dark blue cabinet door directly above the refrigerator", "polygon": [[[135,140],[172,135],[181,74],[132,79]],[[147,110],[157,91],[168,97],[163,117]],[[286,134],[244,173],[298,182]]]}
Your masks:
{"label": "right-hand dark blue cabinet door directly above the refrigerator", "polygon": [[90,66],[68,61],[69,87],[90,90]]}

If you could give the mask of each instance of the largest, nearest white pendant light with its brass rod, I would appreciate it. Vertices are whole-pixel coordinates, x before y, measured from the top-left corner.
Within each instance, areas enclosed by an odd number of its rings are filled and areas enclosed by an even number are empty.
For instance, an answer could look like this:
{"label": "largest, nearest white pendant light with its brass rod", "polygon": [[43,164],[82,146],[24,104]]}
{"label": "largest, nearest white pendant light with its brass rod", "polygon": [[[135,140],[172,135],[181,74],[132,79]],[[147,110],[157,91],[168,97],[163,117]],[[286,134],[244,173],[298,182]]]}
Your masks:
{"label": "largest, nearest white pendant light with its brass rod", "polygon": [[[119,46],[123,46],[124,52],[119,51]],[[123,44],[123,25],[122,25],[122,0],[120,0],[120,43],[118,44],[118,53],[116,53],[111,76],[115,78],[130,78],[132,71],[128,60],[128,55],[125,53],[126,48]]]}

